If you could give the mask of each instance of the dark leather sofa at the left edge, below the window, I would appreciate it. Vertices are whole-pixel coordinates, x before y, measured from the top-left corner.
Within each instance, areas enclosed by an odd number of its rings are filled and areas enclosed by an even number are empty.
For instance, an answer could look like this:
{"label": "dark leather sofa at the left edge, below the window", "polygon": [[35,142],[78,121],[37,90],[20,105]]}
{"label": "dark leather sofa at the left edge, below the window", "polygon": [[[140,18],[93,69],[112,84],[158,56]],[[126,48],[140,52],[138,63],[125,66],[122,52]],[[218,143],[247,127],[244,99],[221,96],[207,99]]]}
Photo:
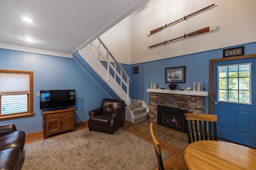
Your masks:
{"label": "dark leather sofa at the left edge, below the window", "polygon": [[14,124],[0,125],[0,170],[18,170],[26,134]]}

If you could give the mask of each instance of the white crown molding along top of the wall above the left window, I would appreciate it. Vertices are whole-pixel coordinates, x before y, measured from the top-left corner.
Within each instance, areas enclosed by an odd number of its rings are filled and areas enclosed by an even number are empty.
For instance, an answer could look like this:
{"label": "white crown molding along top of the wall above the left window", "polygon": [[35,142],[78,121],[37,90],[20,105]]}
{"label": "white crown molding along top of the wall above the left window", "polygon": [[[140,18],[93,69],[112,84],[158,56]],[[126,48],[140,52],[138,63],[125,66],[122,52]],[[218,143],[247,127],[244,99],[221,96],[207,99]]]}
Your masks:
{"label": "white crown molding along top of the wall above the left window", "polygon": [[34,49],[34,48],[30,48],[30,47],[22,47],[22,46],[18,46],[18,45],[0,43],[0,48],[8,49],[8,50],[15,50],[15,51],[23,51],[23,52],[28,52],[28,53],[51,55],[51,56],[57,56],[57,57],[66,57],[66,58],[73,59],[73,55],[71,55],[71,54],[59,53],[59,52],[47,51],[47,50],[41,50],[41,49]]}

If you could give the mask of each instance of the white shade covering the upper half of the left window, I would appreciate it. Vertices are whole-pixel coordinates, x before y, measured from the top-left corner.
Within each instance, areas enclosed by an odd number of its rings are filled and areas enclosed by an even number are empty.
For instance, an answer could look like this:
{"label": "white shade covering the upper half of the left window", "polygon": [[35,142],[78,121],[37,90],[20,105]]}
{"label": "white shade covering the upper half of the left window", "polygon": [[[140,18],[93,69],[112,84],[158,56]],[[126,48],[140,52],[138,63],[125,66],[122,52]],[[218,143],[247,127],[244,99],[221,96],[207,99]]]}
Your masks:
{"label": "white shade covering the upper half of the left window", "polygon": [[28,94],[29,74],[0,73],[0,95]]}

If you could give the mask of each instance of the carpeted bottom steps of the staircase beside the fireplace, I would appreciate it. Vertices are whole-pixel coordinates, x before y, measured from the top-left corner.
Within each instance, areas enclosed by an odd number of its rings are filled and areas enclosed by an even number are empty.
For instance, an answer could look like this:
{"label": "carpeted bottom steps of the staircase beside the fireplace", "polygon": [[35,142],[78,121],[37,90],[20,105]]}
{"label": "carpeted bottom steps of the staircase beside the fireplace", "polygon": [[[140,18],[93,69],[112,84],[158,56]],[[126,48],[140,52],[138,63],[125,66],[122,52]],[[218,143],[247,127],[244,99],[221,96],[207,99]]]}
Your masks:
{"label": "carpeted bottom steps of the staircase beside the fireplace", "polygon": [[149,113],[146,112],[146,107],[142,107],[142,102],[131,100],[131,104],[129,105],[129,107],[134,115],[134,124],[144,120],[148,120]]}

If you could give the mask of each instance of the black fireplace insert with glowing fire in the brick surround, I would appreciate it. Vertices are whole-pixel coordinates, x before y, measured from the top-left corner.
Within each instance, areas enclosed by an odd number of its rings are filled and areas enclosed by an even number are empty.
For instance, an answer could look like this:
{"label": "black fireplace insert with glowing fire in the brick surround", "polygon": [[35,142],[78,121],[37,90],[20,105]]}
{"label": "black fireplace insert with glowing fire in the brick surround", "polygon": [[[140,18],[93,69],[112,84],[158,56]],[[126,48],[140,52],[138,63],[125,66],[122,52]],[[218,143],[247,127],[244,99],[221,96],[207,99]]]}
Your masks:
{"label": "black fireplace insert with glowing fire in the brick surround", "polygon": [[184,113],[187,113],[187,110],[158,105],[157,123],[176,131],[186,133]]}

